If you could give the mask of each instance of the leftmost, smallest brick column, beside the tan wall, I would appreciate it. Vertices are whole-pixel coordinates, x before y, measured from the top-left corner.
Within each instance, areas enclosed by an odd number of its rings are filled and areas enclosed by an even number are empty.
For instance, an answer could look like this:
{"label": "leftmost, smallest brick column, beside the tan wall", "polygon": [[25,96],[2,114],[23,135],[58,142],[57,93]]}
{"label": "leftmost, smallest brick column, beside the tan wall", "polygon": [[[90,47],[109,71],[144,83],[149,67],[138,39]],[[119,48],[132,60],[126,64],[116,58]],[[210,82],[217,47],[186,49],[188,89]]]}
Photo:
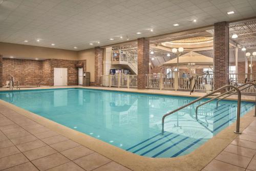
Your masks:
{"label": "leftmost, smallest brick column, beside the tan wall", "polygon": [[103,74],[103,49],[99,47],[95,47],[95,82],[94,86],[100,86],[101,84],[101,75]]}

